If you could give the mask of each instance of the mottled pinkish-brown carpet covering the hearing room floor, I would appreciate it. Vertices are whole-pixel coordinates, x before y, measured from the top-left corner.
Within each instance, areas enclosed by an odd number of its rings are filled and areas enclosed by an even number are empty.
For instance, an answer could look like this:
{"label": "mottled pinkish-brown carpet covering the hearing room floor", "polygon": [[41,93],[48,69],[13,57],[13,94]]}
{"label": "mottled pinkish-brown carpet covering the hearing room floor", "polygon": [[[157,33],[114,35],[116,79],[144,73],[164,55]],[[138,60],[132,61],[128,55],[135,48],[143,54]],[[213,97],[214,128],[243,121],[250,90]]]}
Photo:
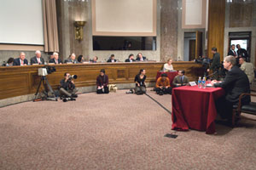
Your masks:
{"label": "mottled pinkish-brown carpet covering the hearing room floor", "polygon": [[[160,105],[125,91],[0,108],[0,169],[256,169],[256,121],[176,132]],[[171,95],[148,94],[172,111]]]}

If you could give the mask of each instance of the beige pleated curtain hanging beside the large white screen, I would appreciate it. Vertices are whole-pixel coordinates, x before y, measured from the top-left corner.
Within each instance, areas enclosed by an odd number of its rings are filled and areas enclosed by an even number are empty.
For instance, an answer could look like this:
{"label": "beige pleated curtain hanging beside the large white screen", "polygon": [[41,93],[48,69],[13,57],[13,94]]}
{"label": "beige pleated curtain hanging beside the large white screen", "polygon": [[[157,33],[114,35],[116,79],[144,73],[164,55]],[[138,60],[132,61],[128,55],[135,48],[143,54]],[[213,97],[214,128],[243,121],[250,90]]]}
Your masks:
{"label": "beige pleated curtain hanging beside the large white screen", "polygon": [[59,52],[58,26],[55,0],[43,0],[44,51]]}

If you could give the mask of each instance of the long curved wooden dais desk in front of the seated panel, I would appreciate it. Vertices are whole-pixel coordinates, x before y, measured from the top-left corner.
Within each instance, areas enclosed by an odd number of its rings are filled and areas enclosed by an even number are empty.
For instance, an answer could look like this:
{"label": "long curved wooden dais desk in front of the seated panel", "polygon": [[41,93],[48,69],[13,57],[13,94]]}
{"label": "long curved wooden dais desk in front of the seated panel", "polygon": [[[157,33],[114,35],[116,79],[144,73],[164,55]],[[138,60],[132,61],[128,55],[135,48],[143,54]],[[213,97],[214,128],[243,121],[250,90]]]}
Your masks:
{"label": "long curved wooden dais desk in front of the seated panel", "polygon": [[[134,63],[96,63],[77,65],[51,65],[56,71],[47,76],[52,88],[59,86],[65,72],[78,75],[76,87],[96,85],[96,77],[101,69],[106,70],[110,83],[131,83],[140,69],[146,70],[146,82],[155,82],[157,71],[160,71],[164,62],[134,62]],[[194,62],[173,62],[175,70],[185,70],[189,80],[196,80],[201,74],[201,65]],[[38,68],[43,65],[0,67],[0,101],[20,95],[34,94],[38,88],[40,78]]]}

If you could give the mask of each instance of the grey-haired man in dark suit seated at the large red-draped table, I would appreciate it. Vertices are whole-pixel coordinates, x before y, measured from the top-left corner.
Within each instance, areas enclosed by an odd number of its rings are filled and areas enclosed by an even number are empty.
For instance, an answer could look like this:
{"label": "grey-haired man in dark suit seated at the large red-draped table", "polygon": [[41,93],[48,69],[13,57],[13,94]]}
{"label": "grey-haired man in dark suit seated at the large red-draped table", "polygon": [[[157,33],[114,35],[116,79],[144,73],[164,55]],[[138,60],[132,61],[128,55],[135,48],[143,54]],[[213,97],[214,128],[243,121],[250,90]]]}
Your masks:
{"label": "grey-haired man in dark suit seated at the large red-draped table", "polygon": [[[224,58],[224,68],[228,70],[223,82],[212,81],[216,88],[224,88],[225,95],[216,102],[217,111],[224,119],[231,122],[233,105],[237,105],[240,94],[250,93],[247,75],[236,65],[236,58],[232,55]],[[241,99],[242,104],[250,102],[250,96]]]}

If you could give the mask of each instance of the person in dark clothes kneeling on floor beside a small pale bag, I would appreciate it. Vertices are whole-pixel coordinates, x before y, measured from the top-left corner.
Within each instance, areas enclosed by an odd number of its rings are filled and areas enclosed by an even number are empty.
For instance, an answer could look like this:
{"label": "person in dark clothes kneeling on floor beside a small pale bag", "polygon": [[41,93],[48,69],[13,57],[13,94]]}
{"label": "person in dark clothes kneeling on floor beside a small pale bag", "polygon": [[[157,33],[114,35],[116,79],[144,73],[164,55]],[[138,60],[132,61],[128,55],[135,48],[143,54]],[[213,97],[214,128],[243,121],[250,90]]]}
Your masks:
{"label": "person in dark clothes kneeling on floor beside a small pale bag", "polygon": [[100,71],[100,75],[96,78],[97,94],[108,94],[108,75],[105,74],[105,70]]}

